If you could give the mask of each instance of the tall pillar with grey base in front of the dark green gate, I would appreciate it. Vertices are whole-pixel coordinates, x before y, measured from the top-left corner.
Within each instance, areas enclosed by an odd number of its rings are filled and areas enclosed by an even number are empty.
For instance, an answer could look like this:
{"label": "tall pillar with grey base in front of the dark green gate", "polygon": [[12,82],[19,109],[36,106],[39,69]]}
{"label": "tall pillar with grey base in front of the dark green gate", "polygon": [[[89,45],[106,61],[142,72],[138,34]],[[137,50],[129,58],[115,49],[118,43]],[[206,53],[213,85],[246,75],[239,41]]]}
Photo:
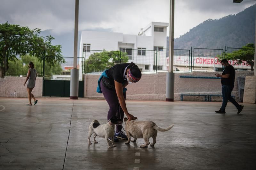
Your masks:
{"label": "tall pillar with grey base in front of the dark green gate", "polygon": [[73,69],[71,70],[70,78],[70,99],[78,99],[78,79],[79,72],[77,70],[77,37],[78,37],[78,9],[79,9],[79,0],[76,0],[75,7],[75,36],[74,36],[74,63]]}

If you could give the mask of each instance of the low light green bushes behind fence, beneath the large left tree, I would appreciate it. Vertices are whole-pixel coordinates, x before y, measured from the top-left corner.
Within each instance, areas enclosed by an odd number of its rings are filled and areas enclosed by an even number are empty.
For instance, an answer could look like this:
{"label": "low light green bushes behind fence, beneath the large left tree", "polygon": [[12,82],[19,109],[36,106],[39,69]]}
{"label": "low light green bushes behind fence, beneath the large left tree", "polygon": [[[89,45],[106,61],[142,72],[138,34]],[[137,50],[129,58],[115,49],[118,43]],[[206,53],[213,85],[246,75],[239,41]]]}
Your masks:
{"label": "low light green bushes behind fence, beneath the large left tree", "polygon": [[[28,73],[28,63],[32,61],[34,63],[35,69],[37,70],[38,76],[43,74],[43,63],[38,60],[35,56],[23,55],[20,59],[15,61],[10,61],[8,64],[8,75],[27,75]],[[44,75],[52,76],[52,74],[61,74],[62,68],[59,63],[54,63],[53,65],[45,64]]]}

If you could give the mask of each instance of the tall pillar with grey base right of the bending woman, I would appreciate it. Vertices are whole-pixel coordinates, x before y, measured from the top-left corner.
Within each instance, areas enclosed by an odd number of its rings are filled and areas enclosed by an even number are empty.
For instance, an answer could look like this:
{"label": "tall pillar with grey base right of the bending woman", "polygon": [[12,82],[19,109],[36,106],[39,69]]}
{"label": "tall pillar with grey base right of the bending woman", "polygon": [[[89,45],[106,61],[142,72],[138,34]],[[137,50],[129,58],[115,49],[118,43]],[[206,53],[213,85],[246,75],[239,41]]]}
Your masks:
{"label": "tall pillar with grey base right of the bending woman", "polygon": [[174,100],[173,43],[174,43],[174,0],[170,0],[169,67],[166,74],[166,101]]}

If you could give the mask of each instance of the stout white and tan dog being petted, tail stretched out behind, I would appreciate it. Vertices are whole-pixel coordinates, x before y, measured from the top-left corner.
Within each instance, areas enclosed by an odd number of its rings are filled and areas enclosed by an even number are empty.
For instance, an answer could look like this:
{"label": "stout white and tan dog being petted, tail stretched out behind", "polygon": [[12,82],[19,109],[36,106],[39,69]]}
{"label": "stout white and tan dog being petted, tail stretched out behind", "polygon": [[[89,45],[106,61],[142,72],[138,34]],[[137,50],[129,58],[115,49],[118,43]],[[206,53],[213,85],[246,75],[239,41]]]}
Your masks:
{"label": "stout white and tan dog being petted, tail stretched out behind", "polygon": [[154,146],[156,144],[156,135],[157,130],[164,132],[167,130],[170,130],[174,124],[169,126],[166,129],[159,128],[156,123],[152,121],[136,121],[132,120],[130,121],[127,117],[124,118],[125,122],[125,130],[128,137],[127,142],[125,144],[130,144],[131,137],[134,137],[132,142],[135,142],[137,138],[143,138],[145,141],[145,144],[140,145],[141,148],[147,147],[149,143],[149,138],[153,138],[153,143],[150,144],[150,146]]}

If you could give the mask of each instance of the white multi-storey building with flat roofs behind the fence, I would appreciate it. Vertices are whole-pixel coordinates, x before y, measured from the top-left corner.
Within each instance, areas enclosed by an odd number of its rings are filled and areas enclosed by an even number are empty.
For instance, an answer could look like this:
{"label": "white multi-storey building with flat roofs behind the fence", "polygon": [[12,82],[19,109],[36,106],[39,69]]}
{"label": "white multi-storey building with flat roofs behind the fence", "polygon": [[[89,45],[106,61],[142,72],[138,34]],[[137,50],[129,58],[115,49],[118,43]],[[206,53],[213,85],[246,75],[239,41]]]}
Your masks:
{"label": "white multi-storey building with flat roofs behind the fence", "polygon": [[[151,22],[138,35],[82,31],[79,57],[86,60],[96,52],[94,50],[121,50],[128,54],[129,62],[136,63],[142,71],[153,71],[156,65],[158,70],[166,70],[166,50],[163,48],[166,48],[167,26],[169,23]],[[159,50],[158,54],[154,50]],[[156,61],[156,55],[163,57]],[[82,69],[79,74],[82,75]]]}

